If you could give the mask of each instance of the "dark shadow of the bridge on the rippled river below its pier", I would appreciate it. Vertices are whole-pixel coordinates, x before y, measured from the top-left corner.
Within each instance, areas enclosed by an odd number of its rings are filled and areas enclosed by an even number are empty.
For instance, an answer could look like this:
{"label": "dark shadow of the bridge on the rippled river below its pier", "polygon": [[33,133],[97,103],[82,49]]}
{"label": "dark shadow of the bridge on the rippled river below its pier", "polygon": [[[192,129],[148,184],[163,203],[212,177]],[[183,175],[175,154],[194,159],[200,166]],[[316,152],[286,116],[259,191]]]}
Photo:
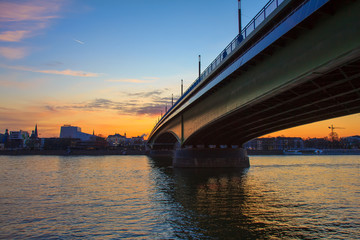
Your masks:
{"label": "dark shadow of the bridge on the rippled river below its pier", "polygon": [[[167,221],[179,239],[267,239],[300,237],[274,222],[287,221],[252,191],[249,168],[173,168],[170,157],[151,157],[157,188],[164,193]],[[269,213],[271,212],[271,213]]]}

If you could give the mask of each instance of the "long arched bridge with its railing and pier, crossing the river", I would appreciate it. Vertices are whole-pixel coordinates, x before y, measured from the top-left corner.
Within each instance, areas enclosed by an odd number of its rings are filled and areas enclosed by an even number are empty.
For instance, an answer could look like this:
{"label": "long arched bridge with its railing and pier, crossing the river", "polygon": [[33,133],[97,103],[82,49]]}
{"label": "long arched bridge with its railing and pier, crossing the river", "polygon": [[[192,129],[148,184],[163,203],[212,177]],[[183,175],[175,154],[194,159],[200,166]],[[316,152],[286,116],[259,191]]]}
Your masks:
{"label": "long arched bridge with its railing and pier, crossing the river", "polygon": [[246,167],[242,145],[360,112],[360,1],[271,0],[152,130],[175,167]]}

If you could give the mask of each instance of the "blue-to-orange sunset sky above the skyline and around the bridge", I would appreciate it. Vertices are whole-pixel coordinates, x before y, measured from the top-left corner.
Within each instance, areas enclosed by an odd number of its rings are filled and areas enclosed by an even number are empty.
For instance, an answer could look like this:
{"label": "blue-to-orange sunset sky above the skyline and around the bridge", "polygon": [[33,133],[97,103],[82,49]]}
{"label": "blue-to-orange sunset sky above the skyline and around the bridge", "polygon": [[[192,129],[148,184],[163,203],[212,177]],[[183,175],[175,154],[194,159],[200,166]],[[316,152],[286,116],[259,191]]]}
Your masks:
{"label": "blue-to-orange sunset sky above the skyline and around the bridge", "polygon": [[[247,24],[268,0],[242,0]],[[238,33],[237,0],[0,1],[0,133],[149,134]],[[359,135],[360,114],[270,134]],[[269,135],[269,134],[268,134]]]}

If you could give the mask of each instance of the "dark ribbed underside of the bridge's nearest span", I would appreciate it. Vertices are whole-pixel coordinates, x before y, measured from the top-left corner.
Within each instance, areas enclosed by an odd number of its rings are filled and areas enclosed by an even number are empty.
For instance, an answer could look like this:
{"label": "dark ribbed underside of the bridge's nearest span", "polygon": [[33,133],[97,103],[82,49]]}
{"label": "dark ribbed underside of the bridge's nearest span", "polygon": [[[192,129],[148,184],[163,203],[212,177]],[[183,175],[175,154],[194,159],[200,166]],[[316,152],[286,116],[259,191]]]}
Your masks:
{"label": "dark ribbed underside of the bridge's nearest span", "polygon": [[307,78],[203,127],[187,144],[242,145],[270,132],[360,112],[360,59]]}

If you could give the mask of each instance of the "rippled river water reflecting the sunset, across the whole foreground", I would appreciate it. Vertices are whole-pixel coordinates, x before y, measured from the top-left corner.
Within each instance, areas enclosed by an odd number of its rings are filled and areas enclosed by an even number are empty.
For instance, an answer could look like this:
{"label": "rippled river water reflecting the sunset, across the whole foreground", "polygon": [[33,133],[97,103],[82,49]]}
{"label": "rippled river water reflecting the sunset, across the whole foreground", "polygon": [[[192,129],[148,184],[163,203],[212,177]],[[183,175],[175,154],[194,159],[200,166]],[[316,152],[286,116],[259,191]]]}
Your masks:
{"label": "rippled river water reflecting the sunset, across the whole foreground", "polygon": [[360,156],[0,156],[1,239],[359,239]]}

